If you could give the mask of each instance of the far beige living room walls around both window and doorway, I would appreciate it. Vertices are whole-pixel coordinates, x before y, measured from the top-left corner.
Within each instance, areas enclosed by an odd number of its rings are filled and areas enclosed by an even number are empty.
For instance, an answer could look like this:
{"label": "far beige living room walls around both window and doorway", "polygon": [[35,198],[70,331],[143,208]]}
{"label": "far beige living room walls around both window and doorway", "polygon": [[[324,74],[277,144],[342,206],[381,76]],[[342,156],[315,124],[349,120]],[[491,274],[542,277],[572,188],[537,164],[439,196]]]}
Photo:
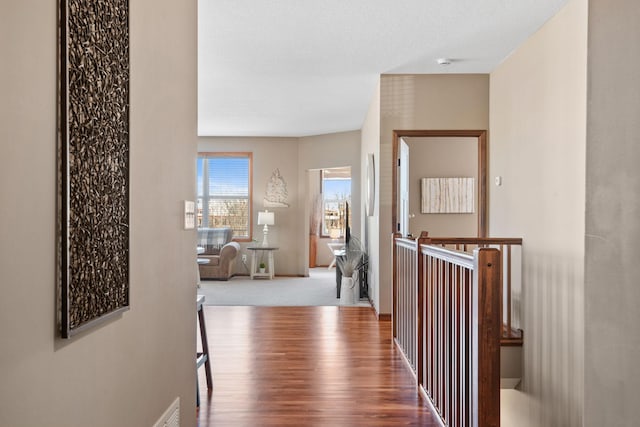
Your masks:
{"label": "far beige living room walls around both window and doorway", "polygon": [[[360,205],[360,132],[341,132],[304,138],[200,137],[198,151],[248,151],[253,153],[253,238],[262,240],[257,225],[258,211],[264,210],[267,181],[278,168],[287,183],[288,208],[269,208],[275,212],[276,225],[269,227],[269,243],[275,252],[277,275],[308,275],[309,263],[309,177],[308,170],[351,166],[354,205]],[[359,207],[353,211],[353,229],[359,229]],[[242,243],[250,260],[250,251]],[[326,246],[326,245],[325,245]],[[248,274],[241,257],[235,271]]]}

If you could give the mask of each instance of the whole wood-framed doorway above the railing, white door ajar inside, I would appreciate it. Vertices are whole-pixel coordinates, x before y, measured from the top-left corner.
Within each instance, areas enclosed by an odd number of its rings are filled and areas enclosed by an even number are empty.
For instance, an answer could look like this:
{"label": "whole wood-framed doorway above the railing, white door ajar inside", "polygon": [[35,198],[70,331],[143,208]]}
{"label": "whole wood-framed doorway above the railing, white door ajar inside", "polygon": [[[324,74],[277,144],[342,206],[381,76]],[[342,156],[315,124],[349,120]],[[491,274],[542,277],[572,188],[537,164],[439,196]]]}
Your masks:
{"label": "whole wood-framed doorway above the railing, white door ajar inside", "polygon": [[[467,142],[465,142],[467,141]],[[437,143],[437,144],[436,144]],[[426,145],[434,148],[424,150]],[[439,147],[437,148],[436,147]],[[454,146],[467,147],[467,151],[456,150]],[[420,148],[421,153],[431,153],[439,156],[435,161],[437,166],[431,167],[431,172],[427,170],[428,163],[434,161],[433,158],[414,156],[409,154],[411,147]],[[473,149],[469,151],[468,147]],[[438,153],[438,154],[433,154]],[[475,159],[469,158],[475,156]],[[465,157],[465,158],[462,158]],[[396,130],[393,133],[393,185],[392,185],[392,230],[407,236],[411,233],[419,235],[422,229],[429,231],[431,235],[447,235],[455,237],[450,230],[459,230],[458,236],[477,235],[487,236],[487,153],[486,153],[486,131],[484,130]],[[411,159],[411,161],[409,161]],[[421,160],[422,159],[422,160]],[[427,161],[428,160],[428,161]],[[463,162],[461,160],[464,160]],[[452,172],[443,170],[442,165],[446,163],[457,164]],[[466,167],[460,170],[459,164],[465,163]],[[468,164],[472,164],[472,169]],[[420,168],[411,172],[410,165]],[[449,214],[439,215],[427,213],[421,210],[419,201],[424,197],[424,188],[421,187],[421,180],[418,176],[428,177],[431,175],[448,178],[453,176],[465,176],[473,178],[473,213],[471,215]],[[444,180],[444,179],[443,179]],[[424,183],[423,183],[424,185]],[[429,218],[429,219],[426,219]],[[471,228],[469,219],[474,218]],[[456,223],[456,221],[458,221]],[[461,221],[461,222],[460,222]],[[411,227],[415,222],[416,226]],[[429,224],[426,228],[424,224]],[[455,224],[466,224],[464,227]],[[445,226],[445,224],[448,224]],[[453,225],[452,225],[453,224]],[[422,229],[418,229],[422,228]]]}

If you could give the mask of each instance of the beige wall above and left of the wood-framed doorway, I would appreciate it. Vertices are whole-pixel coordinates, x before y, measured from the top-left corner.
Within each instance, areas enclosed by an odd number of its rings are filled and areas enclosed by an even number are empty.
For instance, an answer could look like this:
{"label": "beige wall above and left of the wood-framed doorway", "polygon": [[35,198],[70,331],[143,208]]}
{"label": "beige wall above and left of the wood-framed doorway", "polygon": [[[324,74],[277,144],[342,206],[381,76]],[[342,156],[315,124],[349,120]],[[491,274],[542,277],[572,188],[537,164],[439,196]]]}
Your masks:
{"label": "beige wall above and left of the wood-framed doorway", "polygon": [[488,129],[489,75],[383,75],[379,114],[379,309],[391,313],[393,131]]}

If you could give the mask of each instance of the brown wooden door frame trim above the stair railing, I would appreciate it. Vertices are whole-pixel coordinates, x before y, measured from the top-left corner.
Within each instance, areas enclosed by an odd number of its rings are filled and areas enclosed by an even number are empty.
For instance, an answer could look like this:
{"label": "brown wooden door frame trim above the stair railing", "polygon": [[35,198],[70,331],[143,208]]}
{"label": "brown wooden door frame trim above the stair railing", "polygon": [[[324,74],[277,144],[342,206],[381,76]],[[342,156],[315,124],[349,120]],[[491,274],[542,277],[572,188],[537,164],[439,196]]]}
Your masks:
{"label": "brown wooden door frame trim above the stair railing", "polygon": [[398,146],[404,137],[474,137],[478,140],[478,237],[487,237],[487,131],[486,130],[394,130],[391,232],[398,224]]}

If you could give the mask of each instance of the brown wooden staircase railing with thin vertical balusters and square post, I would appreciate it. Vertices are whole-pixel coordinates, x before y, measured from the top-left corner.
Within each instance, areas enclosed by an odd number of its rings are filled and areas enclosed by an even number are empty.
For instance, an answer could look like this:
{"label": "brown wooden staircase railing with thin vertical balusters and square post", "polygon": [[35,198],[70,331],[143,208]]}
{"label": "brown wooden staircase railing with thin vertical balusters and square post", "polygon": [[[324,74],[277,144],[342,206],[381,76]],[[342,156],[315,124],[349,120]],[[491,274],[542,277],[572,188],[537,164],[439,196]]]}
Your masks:
{"label": "brown wooden staircase railing with thin vertical balusters and square post", "polygon": [[394,340],[445,425],[498,426],[503,254],[522,242],[451,240],[394,235]]}

